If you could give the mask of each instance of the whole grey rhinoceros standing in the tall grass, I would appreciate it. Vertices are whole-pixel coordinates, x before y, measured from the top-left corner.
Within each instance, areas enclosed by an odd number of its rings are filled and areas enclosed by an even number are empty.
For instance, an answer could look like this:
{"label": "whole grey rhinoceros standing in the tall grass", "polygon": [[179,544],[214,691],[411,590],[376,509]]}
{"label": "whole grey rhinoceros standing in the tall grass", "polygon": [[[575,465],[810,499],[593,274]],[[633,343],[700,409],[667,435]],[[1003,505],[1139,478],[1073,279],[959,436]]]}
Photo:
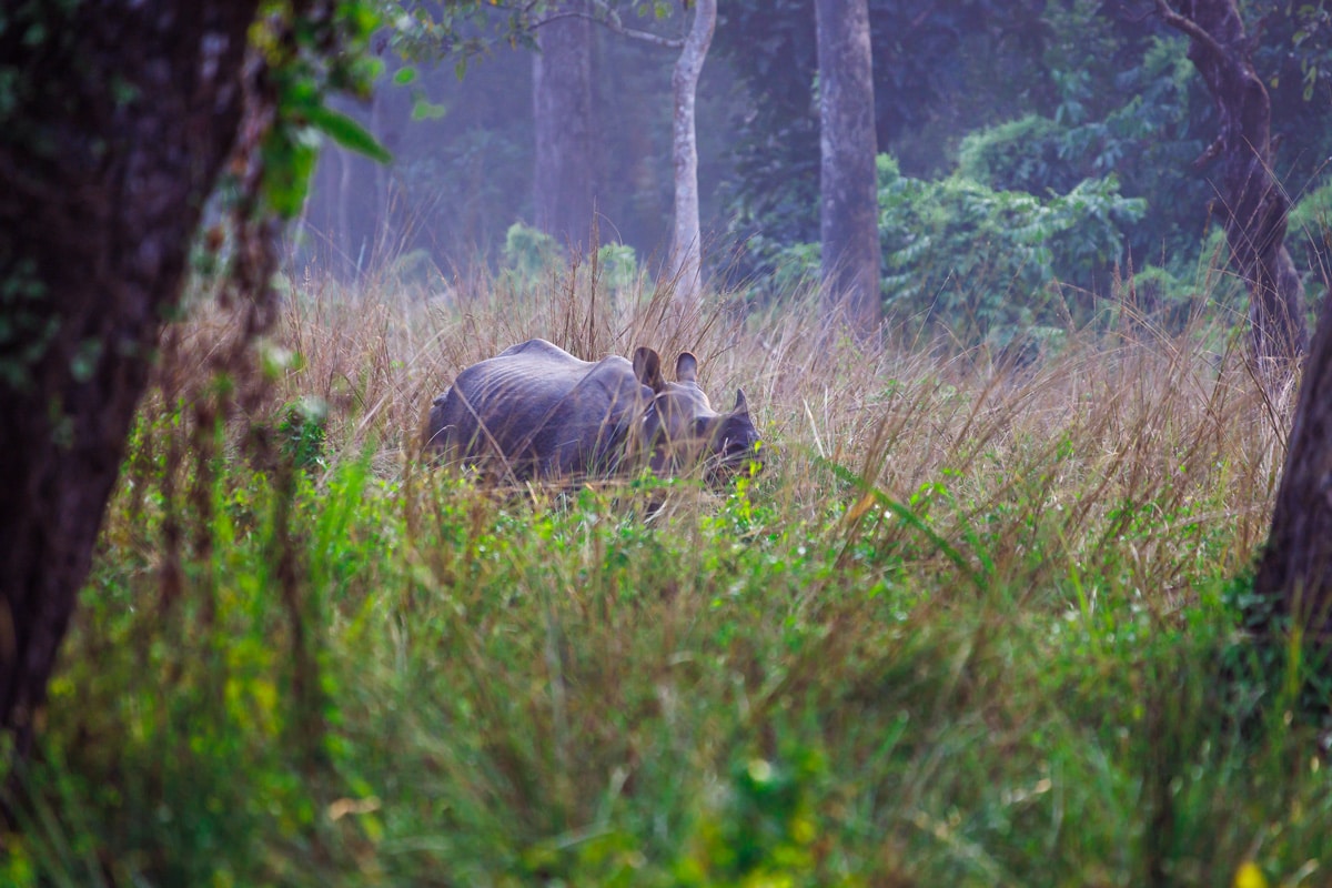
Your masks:
{"label": "whole grey rhinoceros standing in the tall grass", "polygon": [[730,413],[713,410],[689,351],[667,382],[653,349],[591,362],[529,339],[458,374],[434,399],[425,449],[517,481],[699,463],[717,479],[755,459],[759,438],[743,390]]}

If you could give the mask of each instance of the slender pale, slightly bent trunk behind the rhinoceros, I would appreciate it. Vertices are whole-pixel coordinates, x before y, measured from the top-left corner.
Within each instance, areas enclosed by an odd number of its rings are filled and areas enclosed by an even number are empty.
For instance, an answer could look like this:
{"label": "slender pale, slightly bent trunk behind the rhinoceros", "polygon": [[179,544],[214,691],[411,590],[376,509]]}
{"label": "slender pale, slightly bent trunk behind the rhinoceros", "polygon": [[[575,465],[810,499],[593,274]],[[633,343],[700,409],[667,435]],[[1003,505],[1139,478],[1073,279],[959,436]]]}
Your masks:
{"label": "slender pale, slightly bent trunk behind the rhinoceros", "polygon": [[685,39],[671,92],[675,97],[673,152],[675,160],[675,233],[671,238],[671,277],[675,309],[682,320],[698,316],[702,293],[703,245],[698,222],[698,138],[694,128],[694,97],[703,72],[707,48],[717,28],[717,0],[697,0],[694,24]]}

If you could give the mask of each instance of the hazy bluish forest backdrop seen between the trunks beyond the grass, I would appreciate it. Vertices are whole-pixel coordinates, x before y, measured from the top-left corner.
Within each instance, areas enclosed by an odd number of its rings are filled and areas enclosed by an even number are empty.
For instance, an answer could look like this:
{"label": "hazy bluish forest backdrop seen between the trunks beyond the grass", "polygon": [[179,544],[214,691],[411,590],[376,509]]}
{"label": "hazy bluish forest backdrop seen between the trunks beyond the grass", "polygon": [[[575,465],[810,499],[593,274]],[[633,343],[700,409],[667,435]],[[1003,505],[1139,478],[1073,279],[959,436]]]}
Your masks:
{"label": "hazy bluish forest backdrop seen between the trunks beyond the grass", "polygon": [[[655,5],[669,15],[635,24],[678,35],[686,16]],[[1329,13],[1280,0],[1241,5],[1272,100],[1273,172],[1296,205],[1289,246],[1300,272],[1317,274],[1325,262],[1313,222],[1332,200]],[[1187,37],[1151,4],[868,8],[890,324],[914,335],[942,322],[964,342],[1007,343],[1019,330],[1058,337],[1070,322],[1106,320],[1127,293],[1116,281],[1130,276],[1135,309],[1172,329],[1203,308],[1199,269],[1224,253],[1216,170],[1195,161],[1217,117]],[[409,19],[381,40],[386,84],[404,52],[417,68],[369,108],[348,111],[396,162],[325,152],[297,266],[433,274],[448,292],[469,269],[533,269],[558,254],[567,237],[551,244],[511,228],[534,222],[533,53],[506,45],[503,27],[485,12],[465,23],[473,55],[461,64],[457,53],[432,64]],[[618,248],[605,256],[622,274],[655,273],[670,240],[675,53],[603,27],[593,43],[599,240]],[[751,301],[817,280],[817,91],[813,0],[721,7],[697,111],[705,273],[722,289],[745,285]]]}

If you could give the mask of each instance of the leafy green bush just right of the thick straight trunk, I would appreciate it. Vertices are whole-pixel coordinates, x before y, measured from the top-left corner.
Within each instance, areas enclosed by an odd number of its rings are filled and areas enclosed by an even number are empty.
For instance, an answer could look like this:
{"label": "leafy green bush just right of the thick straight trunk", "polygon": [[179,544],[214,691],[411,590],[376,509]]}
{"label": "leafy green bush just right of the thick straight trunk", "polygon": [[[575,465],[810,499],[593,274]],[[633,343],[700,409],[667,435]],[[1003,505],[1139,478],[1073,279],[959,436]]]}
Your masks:
{"label": "leafy green bush just right of the thick straight trunk", "polygon": [[1084,324],[1095,304],[1064,300],[1052,286],[1076,285],[1118,262],[1122,230],[1143,212],[1143,201],[1119,194],[1114,176],[1043,201],[960,174],[908,178],[883,154],[884,305],[912,326],[942,322],[964,338],[1000,343],[1031,326]]}

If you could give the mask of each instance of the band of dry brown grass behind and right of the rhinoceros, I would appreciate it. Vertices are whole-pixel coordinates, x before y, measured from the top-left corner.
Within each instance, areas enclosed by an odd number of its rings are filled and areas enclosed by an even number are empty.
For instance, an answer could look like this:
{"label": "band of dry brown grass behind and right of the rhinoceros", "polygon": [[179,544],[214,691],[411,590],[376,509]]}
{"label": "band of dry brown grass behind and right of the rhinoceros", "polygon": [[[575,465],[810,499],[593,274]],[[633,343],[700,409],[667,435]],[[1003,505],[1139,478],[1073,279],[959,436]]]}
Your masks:
{"label": "band of dry brown grass behind and right of the rhinoceros", "polygon": [[[1273,403],[1255,382],[1235,333],[1195,324],[1163,335],[1136,318],[1110,334],[1072,333],[1056,353],[1011,367],[984,349],[825,335],[809,297],[745,313],[737,297],[714,296],[681,324],[669,284],[606,293],[593,270],[555,273],[535,296],[502,281],[449,298],[302,282],[274,335],[301,361],[270,409],[326,401],[334,453],[372,447],[377,470],[393,474],[432,398],[509,345],[539,335],[583,358],[651,345],[667,361],[687,347],[718,406],[745,387],[779,454],[765,495],[791,522],[818,523],[847,499],[821,469],[836,463],[928,511],[944,538],[976,537],[996,580],[1076,570],[1082,555],[1019,568],[1032,527],[1067,553],[1124,546],[1135,583],[1164,588],[1188,583],[1189,562],[1163,542],[1177,533],[1148,533],[1152,521],[1219,533],[1228,542],[1209,556],[1224,570],[1241,570],[1264,538],[1289,397]],[[947,507],[932,507],[940,498]]]}

